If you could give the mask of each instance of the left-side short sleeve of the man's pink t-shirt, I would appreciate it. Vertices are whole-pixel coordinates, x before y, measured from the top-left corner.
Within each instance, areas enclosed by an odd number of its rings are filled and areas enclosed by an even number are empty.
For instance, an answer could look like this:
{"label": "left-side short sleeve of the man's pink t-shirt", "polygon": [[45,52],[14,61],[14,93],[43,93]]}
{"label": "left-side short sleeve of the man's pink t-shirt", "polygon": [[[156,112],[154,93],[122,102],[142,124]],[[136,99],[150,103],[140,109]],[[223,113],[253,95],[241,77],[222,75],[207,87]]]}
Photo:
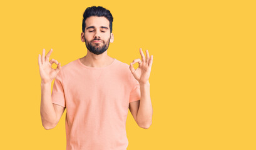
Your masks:
{"label": "left-side short sleeve of the man's pink t-shirt", "polygon": [[59,106],[63,106],[64,108],[66,108],[61,71],[59,71],[59,74],[55,78],[51,99],[53,101],[53,104],[58,104]]}

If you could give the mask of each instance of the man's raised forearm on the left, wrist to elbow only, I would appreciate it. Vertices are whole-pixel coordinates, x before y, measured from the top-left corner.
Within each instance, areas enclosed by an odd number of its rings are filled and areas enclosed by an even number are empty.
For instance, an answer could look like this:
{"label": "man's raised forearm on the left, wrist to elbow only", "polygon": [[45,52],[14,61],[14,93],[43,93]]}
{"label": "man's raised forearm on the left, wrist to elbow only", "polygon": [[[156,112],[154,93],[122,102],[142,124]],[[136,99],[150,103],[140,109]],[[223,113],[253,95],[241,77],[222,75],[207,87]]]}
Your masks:
{"label": "man's raised forearm on the left, wrist to elbow only", "polygon": [[41,83],[40,114],[44,128],[53,128],[56,121],[56,113],[51,100],[51,83]]}

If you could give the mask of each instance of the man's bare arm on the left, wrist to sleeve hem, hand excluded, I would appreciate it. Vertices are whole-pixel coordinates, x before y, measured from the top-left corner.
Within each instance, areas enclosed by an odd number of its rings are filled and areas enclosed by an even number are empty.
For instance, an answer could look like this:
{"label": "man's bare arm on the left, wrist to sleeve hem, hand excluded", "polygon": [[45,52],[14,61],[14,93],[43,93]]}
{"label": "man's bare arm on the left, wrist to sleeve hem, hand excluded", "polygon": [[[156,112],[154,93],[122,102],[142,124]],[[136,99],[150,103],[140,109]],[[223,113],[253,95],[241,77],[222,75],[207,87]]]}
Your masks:
{"label": "man's bare arm on the left, wrist to sleeve hem, hand excluded", "polygon": [[53,129],[61,119],[65,108],[52,103],[51,83],[41,83],[40,114],[44,129]]}

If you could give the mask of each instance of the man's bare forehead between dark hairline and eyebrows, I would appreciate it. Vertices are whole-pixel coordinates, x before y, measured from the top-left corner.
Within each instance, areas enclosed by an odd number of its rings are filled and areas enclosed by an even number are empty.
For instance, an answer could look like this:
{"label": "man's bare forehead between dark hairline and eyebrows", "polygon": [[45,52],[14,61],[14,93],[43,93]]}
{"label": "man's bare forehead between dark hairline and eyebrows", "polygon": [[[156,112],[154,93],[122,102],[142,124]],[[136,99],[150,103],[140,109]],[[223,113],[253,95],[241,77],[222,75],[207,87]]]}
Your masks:
{"label": "man's bare forehead between dark hairline and eyebrows", "polygon": [[106,17],[91,16],[91,17],[86,18],[85,24],[86,24],[86,27],[88,27],[88,26],[109,27],[110,21],[108,21],[108,19],[106,19]]}

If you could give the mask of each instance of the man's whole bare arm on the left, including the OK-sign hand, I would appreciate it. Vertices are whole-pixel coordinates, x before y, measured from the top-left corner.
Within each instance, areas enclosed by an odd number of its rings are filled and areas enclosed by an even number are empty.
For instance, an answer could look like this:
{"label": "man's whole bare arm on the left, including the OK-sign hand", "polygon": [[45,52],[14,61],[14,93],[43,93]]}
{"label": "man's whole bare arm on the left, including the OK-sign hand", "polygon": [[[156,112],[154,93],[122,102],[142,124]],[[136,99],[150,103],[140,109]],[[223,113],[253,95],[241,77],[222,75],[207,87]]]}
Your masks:
{"label": "man's whole bare arm on the left, including the OK-sign hand", "polygon": [[[53,129],[58,124],[64,109],[62,106],[53,104],[51,99],[51,83],[57,74],[61,70],[61,64],[58,61],[51,59],[49,56],[53,52],[51,49],[48,54],[45,55],[45,49],[43,49],[42,56],[38,56],[39,73],[41,76],[41,105],[40,114],[44,129]],[[51,68],[52,64],[57,64],[57,68]]]}

